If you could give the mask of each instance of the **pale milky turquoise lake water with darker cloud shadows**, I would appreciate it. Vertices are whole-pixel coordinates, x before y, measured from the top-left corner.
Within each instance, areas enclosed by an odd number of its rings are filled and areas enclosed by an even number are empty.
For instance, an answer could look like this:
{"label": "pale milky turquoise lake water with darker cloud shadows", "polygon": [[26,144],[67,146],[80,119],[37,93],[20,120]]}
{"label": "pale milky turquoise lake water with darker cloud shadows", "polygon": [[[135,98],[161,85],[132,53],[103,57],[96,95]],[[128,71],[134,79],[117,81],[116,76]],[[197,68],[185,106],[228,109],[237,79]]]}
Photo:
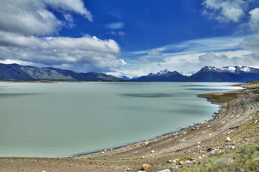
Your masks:
{"label": "pale milky turquoise lake water with darker cloud shadows", "polygon": [[68,157],[211,119],[229,83],[0,83],[0,156]]}

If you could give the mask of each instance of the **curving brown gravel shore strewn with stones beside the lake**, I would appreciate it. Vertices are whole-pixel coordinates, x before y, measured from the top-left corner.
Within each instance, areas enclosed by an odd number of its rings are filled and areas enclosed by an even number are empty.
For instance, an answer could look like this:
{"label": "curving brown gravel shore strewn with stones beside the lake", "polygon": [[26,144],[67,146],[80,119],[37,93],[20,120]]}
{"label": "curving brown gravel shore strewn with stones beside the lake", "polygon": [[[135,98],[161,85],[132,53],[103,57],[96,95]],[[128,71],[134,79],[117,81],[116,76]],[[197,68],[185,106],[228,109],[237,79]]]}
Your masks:
{"label": "curving brown gravel shore strewn with stones beside the lake", "polygon": [[[221,106],[214,119],[152,140],[73,158],[0,158],[2,171],[178,171],[215,153],[234,151],[256,140],[259,126],[258,84],[245,89],[200,94]],[[255,89],[256,90],[256,89]],[[247,129],[247,125],[251,125]],[[142,168],[144,170],[144,168]]]}

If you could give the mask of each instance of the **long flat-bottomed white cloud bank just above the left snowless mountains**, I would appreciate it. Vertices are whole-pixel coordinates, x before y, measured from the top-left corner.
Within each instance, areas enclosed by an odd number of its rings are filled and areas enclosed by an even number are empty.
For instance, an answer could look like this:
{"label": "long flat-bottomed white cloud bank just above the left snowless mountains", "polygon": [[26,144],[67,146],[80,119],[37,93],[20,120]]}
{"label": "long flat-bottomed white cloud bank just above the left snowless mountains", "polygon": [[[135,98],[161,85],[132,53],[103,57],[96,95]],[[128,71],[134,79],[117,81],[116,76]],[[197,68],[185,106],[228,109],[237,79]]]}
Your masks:
{"label": "long flat-bottomed white cloud bank just above the left snowless mountains", "polygon": [[113,40],[100,40],[96,37],[25,37],[0,31],[2,61],[17,60],[45,66],[78,65],[78,70],[87,66],[84,72],[90,69],[114,71],[128,65],[123,59],[113,55],[118,53],[120,47]]}

